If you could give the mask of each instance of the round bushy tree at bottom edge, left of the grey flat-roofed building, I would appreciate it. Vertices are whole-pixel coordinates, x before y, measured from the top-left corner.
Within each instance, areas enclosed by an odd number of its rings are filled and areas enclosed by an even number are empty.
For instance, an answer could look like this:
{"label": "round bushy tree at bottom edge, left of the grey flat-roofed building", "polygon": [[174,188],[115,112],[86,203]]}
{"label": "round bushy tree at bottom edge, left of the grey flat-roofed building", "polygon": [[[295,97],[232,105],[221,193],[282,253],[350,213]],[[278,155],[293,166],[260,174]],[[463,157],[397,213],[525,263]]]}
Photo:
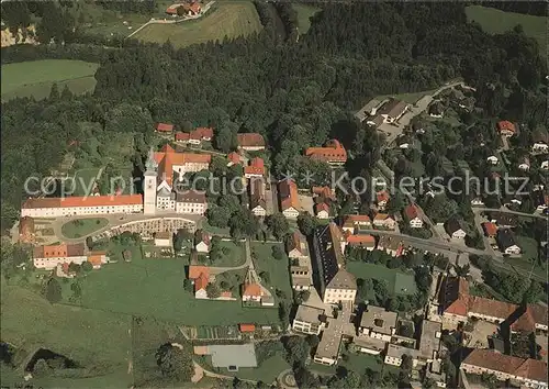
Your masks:
{"label": "round bushy tree at bottom edge, left of the grey flat-roofed building", "polygon": [[191,355],[169,343],[161,345],[156,352],[156,364],[163,376],[173,380],[190,381],[194,374]]}

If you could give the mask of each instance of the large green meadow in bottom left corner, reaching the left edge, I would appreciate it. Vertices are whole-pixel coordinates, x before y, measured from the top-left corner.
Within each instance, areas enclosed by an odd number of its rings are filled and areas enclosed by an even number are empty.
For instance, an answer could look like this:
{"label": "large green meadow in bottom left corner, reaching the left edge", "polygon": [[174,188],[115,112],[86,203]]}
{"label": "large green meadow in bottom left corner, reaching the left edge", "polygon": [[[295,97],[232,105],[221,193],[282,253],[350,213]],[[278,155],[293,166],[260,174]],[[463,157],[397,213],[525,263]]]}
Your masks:
{"label": "large green meadow in bottom left corner, reaching the left edge", "polygon": [[[102,375],[127,370],[131,318],[51,304],[31,290],[2,281],[2,341],[33,353],[47,348]],[[24,309],[22,309],[24,308]]]}

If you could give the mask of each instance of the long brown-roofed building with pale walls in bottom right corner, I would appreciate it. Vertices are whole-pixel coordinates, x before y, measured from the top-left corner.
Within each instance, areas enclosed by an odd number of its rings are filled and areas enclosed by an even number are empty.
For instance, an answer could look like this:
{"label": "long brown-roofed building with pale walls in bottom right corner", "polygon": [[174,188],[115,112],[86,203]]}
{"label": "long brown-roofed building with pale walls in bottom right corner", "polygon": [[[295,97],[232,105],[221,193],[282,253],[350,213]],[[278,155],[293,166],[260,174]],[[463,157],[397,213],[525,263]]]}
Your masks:
{"label": "long brown-roofed building with pale walls in bottom right corner", "polygon": [[547,363],[475,348],[461,363],[460,369],[472,375],[494,375],[500,381],[517,382],[527,388],[547,388]]}

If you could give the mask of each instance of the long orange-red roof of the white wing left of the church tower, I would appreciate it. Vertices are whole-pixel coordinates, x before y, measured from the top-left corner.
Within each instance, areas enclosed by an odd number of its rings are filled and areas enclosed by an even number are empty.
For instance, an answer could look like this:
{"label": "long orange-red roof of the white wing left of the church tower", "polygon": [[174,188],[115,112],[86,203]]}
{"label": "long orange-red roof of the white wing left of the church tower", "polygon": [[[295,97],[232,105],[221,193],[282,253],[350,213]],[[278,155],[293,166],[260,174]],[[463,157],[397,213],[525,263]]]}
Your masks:
{"label": "long orange-red roof of the white wing left of the church tower", "polygon": [[114,205],[137,205],[143,203],[141,194],[121,196],[85,196],[66,197],[56,199],[29,199],[21,208],[75,208],[75,207],[114,207]]}

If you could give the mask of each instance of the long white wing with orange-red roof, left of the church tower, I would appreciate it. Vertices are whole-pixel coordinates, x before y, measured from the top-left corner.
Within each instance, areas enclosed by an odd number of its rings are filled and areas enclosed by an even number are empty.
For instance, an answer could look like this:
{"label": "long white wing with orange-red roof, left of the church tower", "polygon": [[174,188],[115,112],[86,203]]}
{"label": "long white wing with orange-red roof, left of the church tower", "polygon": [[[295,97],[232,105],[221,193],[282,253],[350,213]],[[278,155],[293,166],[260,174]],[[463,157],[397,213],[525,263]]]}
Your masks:
{"label": "long white wing with orange-red roof, left of the church tower", "polygon": [[27,199],[21,205],[22,218],[63,218],[141,212],[143,212],[141,194]]}

